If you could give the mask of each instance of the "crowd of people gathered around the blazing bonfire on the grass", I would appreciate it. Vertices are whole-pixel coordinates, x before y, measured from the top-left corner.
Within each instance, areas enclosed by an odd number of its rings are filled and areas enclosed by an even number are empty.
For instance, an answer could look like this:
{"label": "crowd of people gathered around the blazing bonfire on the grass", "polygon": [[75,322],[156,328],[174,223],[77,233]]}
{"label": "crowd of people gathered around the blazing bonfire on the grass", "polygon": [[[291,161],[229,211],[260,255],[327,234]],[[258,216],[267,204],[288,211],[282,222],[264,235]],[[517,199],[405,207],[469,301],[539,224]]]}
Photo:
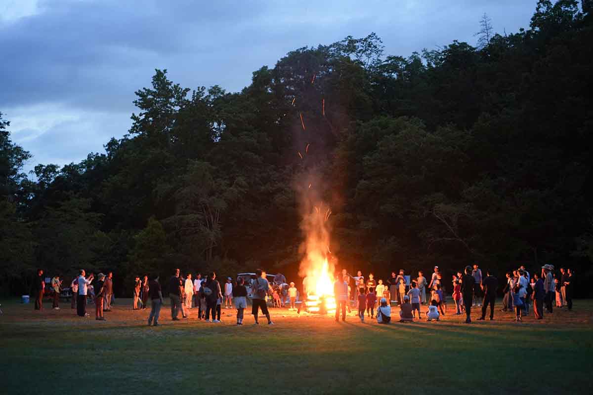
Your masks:
{"label": "crowd of people gathered around the blazing bonfire on the grass", "polygon": [[[270,276],[271,278],[271,276]],[[244,310],[251,301],[251,314],[254,325],[259,324],[259,313],[266,317],[267,323],[273,325],[268,304],[274,307],[288,307],[289,310],[306,310],[305,301],[309,296],[315,279],[305,277],[302,280],[302,290],[299,291],[295,282],[286,283],[286,278],[278,274],[270,282],[265,271],[258,269],[249,278],[242,276],[235,281],[228,277],[223,285],[219,283],[215,272],[205,277],[197,273],[193,278],[191,273],[181,275],[176,269],[168,280],[167,290],[171,304],[171,319],[180,320],[190,317],[190,310],[197,309],[197,319],[206,322],[221,322],[221,309],[234,308],[237,310],[237,325],[243,325]],[[37,272],[34,282],[35,309],[43,309],[43,297],[46,294],[46,278],[43,270]],[[448,314],[447,300],[451,297],[455,303],[455,313],[466,314],[466,323],[471,323],[472,307],[481,307],[482,314],[478,320],[485,320],[489,310],[489,319],[494,319],[496,297],[499,282],[493,272],[486,271],[483,275],[479,265],[466,266],[451,276],[449,281],[438,266],[435,266],[430,281],[422,271],[416,278],[406,275],[403,269],[398,273],[392,272],[387,281],[376,280],[370,273],[368,278],[358,271],[355,276],[346,269],[336,275],[334,282],[334,298],[336,301],[335,319],[346,320],[346,311],[358,308],[361,322],[367,319],[377,320],[378,323],[391,322],[391,306],[400,307],[400,322],[413,322],[420,319],[420,306],[426,305],[424,312],[428,321],[439,321],[441,316]],[[62,280],[56,275],[49,281],[52,296],[52,308],[59,310]],[[506,284],[502,289],[503,300],[500,311],[515,313],[518,322],[522,317],[530,314],[530,305],[536,319],[543,319],[544,310],[553,313],[556,307],[566,307],[572,310],[572,295],[575,286],[573,271],[560,268],[560,275],[556,275],[554,266],[546,264],[541,267],[541,273],[533,277],[520,266],[514,271],[506,273]],[[104,311],[111,311],[113,301],[113,273],[107,275],[99,273],[87,276],[84,269],[79,271],[78,277],[70,283],[72,294],[71,308],[76,309],[78,316],[89,316],[87,303],[95,306],[95,319],[105,320]],[[450,295],[448,294],[450,291]],[[300,300],[299,300],[300,298]],[[160,311],[164,303],[161,283],[158,276],[149,278],[136,276],[133,282],[132,309],[147,309],[150,300],[151,311],[148,325],[158,326]]]}

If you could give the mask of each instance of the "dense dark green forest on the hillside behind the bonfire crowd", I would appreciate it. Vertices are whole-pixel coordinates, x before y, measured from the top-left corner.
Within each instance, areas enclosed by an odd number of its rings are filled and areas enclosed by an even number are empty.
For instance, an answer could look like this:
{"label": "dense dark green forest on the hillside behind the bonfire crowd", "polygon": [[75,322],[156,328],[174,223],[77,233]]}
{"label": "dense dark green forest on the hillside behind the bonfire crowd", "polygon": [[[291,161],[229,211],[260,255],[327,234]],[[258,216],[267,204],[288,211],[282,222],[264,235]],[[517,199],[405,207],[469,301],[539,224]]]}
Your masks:
{"label": "dense dark green forest on the hillside behind the bonfire crowd", "polygon": [[512,34],[484,18],[478,38],[401,57],[375,34],[346,37],[289,52],[237,93],[156,70],[122,139],[31,176],[0,113],[2,293],[26,292],[37,267],[110,270],[119,294],[174,267],[294,280],[303,188],[331,207],[350,271],[551,263],[586,284],[593,0],[540,0]]}

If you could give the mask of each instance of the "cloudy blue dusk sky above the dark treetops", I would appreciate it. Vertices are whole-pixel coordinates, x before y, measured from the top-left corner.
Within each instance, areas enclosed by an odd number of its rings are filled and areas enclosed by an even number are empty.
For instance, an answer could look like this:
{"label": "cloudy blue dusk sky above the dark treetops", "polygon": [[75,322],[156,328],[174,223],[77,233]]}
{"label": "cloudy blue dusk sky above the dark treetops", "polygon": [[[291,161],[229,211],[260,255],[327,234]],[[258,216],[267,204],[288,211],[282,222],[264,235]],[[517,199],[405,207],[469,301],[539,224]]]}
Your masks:
{"label": "cloudy blue dusk sky above the dark treetops", "polygon": [[287,52],[380,36],[409,56],[452,40],[475,45],[486,12],[496,32],[529,27],[537,0],[0,0],[0,112],[37,163],[103,152],[136,111],[154,69],[187,88],[240,91]]}

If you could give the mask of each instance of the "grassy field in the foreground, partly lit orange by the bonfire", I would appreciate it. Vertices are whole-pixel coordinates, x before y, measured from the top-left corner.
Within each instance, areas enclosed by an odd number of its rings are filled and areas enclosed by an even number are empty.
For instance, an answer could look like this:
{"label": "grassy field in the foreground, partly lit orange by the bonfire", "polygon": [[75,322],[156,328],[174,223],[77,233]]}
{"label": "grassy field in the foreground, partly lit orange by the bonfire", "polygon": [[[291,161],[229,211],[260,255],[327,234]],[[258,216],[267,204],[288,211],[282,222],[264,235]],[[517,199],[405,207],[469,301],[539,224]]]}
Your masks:
{"label": "grassy field in the foreground, partly lit orange by the bonfire", "polygon": [[45,306],[2,301],[0,393],[593,393],[593,300],[538,322],[497,309],[493,322],[447,314],[388,326],[284,309],[272,310],[275,326],[246,316],[238,327],[224,309],[222,324],[197,320],[197,310],[172,322],[164,308],[161,326],[148,327],[149,310],[129,300],[105,322]]}

